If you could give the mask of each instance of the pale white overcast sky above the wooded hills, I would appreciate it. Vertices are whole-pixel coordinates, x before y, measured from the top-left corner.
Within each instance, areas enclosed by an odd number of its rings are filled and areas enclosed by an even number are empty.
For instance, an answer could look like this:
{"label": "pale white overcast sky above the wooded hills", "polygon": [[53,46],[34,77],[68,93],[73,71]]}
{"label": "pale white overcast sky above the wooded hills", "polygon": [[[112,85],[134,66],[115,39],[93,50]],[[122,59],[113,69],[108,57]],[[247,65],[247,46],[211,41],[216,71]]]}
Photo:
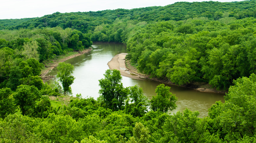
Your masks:
{"label": "pale white overcast sky above the wooded hills", "polygon": [[[4,0],[0,5],[0,19],[42,17],[55,12],[88,12],[106,9],[132,9],[166,6],[181,0]],[[184,0],[202,2],[208,0]],[[217,1],[217,0],[213,0]],[[235,0],[218,0],[232,2]],[[237,0],[241,1],[241,0]]]}

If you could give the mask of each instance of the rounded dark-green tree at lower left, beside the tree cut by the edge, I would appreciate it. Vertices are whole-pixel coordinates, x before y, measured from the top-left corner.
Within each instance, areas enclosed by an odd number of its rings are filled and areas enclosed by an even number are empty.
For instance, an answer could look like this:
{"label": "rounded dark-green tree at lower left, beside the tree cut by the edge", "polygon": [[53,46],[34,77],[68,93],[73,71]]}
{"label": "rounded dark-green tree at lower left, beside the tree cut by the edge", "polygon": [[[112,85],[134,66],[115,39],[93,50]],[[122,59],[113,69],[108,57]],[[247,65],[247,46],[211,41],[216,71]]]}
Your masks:
{"label": "rounded dark-green tree at lower left, beside the tree cut by the edge", "polygon": [[34,113],[36,101],[41,98],[41,94],[35,86],[20,85],[16,94],[13,95],[15,103],[20,107],[22,115],[31,116]]}

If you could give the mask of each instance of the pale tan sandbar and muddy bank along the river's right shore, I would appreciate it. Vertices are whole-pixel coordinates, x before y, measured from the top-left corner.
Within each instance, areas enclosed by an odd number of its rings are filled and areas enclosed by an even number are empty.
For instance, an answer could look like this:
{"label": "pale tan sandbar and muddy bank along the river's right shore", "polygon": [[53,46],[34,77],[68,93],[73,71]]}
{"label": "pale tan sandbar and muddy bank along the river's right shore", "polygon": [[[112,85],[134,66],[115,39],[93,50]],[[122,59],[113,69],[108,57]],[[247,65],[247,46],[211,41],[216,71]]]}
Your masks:
{"label": "pale tan sandbar and muddy bank along the river's right shore", "polygon": [[[126,55],[127,55],[127,53],[121,53],[121,54],[118,54],[115,57],[113,57],[111,59],[111,61],[108,62],[109,69],[111,69],[111,70],[117,69],[117,70],[120,71],[122,76],[130,77],[130,78],[133,78],[133,79],[139,79],[139,80],[150,79],[150,80],[154,80],[154,81],[174,85],[169,80],[160,80],[158,78],[149,78],[148,75],[143,75],[143,74],[139,73],[136,70],[136,68],[134,68],[129,63],[129,61],[127,63],[125,63],[125,56]],[[227,91],[218,91],[214,88],[211,88],[211,86],[208,83],[197,83],[196,87],[189,87],[189,86],[185,86],[185,87],[193,88],[195,90],[202,91],[202,92],[214,92],[214,93],[225,93],[225,92],[227,92]]]}

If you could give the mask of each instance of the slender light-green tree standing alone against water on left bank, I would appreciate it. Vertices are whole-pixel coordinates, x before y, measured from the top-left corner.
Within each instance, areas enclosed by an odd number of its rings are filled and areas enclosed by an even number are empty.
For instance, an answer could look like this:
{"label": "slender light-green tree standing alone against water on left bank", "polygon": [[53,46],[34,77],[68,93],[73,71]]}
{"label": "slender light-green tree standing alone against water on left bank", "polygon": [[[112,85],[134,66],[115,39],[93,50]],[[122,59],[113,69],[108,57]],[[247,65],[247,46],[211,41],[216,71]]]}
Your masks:
{"label": "slender light-green tree standing alone against water on left bank", "polygon": [[72,85],[75,80],[75,77],[71,75],[73,73],[74,66],[69,63],[61,62],[58,64],[57,69],[57,77],[62,83],[64,95],[66,95],[67,93],[72,94],[70,85]]}

